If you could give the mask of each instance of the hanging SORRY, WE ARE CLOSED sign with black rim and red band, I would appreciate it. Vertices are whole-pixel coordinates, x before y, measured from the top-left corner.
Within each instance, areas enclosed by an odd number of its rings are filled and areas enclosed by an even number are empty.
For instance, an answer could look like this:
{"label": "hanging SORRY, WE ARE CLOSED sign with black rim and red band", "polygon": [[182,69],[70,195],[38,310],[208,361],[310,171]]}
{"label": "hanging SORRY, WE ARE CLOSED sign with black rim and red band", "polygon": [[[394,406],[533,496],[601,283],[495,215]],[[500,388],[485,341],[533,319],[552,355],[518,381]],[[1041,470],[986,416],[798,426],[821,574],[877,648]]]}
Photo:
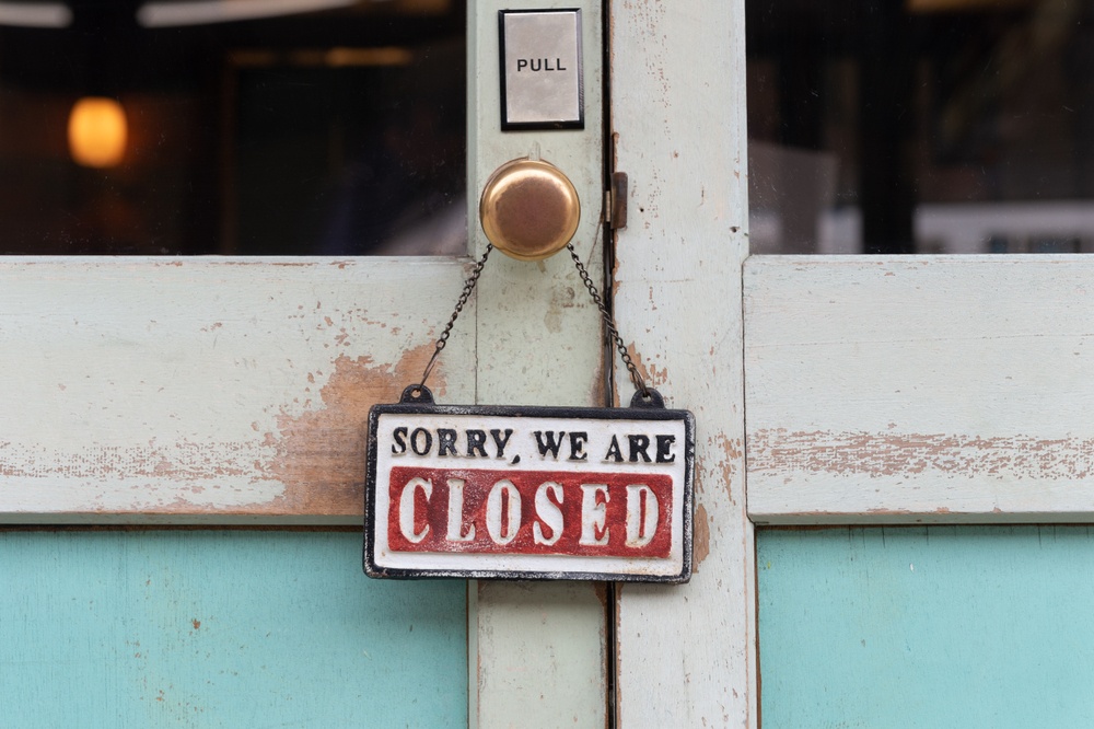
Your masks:
{"label": "hanging SORRY, WE ARE CLOSED sign with black rim and red band", "polygon": [[690,413],[441,406],[424,392],[370,414],[370,576],[690,577]]}

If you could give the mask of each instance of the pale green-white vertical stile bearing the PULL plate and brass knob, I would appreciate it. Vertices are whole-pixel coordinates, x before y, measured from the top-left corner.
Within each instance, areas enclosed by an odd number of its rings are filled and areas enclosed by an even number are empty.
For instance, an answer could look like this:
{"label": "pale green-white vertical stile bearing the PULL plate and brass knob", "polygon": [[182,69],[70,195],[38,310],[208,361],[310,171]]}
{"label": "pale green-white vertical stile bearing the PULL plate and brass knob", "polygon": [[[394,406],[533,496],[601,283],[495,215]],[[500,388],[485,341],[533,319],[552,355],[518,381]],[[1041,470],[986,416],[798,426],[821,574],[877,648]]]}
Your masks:
{"label": "pale green-white vertical stile bearing the PULL plate and brass knob", "polygon": [[[500,131],[498,15],[511,2],[472,4],[468,108],[473,130],[473,250],[486,246],[479,194],[502,163],[529,154],[557,165],[578,189],[581,223],[574,245],[594,280],[603,275],[603,242],[594,247],[603,197],[603,113],[598,2],[548,0],[537,9],[581,8],[585,129]],[[513,405],[604,403],[600,319],[568,254],[542,263],[494,252],[478,285],[476,402]],[[602,727],[607,720],[603,595],[591,583],[473,583],[468,655],[473,726]]]}

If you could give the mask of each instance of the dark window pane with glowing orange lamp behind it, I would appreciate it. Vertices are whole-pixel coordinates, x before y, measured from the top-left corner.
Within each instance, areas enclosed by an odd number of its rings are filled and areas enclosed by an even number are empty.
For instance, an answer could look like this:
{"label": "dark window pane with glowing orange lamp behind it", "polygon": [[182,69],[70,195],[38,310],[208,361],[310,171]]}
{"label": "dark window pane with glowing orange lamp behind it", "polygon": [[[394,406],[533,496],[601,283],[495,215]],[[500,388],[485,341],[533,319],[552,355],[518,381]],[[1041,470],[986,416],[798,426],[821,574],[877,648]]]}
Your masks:
{"label": "dark window pane with glowing orange lamp behind it", "polygon": [[465,24],[461,0],[0,2],[0,253],[462,254]]}

